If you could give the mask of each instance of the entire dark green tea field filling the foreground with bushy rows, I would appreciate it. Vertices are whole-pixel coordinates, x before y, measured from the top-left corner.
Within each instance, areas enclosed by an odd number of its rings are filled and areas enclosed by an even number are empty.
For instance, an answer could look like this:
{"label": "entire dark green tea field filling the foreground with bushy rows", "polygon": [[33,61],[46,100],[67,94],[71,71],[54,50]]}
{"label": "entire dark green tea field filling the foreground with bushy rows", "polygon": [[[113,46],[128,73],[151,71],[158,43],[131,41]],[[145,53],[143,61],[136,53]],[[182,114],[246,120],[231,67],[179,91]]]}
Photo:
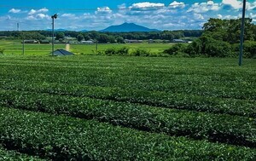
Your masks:
{"label": "entire dark green tea field filling the foreground with bushy rows", "polygon": [[2,55],[0,69],[3,160],[256,160],[256,60]]}

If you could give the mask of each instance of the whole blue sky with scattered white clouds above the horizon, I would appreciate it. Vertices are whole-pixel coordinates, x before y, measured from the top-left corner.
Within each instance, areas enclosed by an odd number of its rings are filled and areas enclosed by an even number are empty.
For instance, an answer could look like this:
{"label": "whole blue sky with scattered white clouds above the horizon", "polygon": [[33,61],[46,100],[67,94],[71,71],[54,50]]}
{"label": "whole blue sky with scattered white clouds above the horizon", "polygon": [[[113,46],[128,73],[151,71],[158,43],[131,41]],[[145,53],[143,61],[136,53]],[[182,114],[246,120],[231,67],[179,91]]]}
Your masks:
{"label": "whole blue sky with scattered white clouds above the horizon", "polygon": [[[124,22],[159,30],[201,29],[209,18],[241,17],[241,0],[8,0],[0,3],[0,30],[44,30],[52,14],[55,28],[101,30]],[[256,23],[256,1],[247,0]]]}

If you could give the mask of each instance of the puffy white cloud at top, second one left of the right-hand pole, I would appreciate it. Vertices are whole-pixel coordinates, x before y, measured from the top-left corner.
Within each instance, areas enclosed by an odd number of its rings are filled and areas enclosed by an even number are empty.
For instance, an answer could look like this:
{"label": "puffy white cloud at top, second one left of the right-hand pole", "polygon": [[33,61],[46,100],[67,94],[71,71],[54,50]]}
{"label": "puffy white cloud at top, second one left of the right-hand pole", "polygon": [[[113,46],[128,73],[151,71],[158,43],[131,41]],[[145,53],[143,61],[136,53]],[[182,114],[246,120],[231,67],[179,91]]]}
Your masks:
{"label": "puffy white cloud at top, second one left of the right-hand pole", "polygon": [[218,11],[219,9],[221,9],[220,4],[213,3],[213,1],[208,1],[207,3],[192,4],[187,12],[206,13],[208,11]]}

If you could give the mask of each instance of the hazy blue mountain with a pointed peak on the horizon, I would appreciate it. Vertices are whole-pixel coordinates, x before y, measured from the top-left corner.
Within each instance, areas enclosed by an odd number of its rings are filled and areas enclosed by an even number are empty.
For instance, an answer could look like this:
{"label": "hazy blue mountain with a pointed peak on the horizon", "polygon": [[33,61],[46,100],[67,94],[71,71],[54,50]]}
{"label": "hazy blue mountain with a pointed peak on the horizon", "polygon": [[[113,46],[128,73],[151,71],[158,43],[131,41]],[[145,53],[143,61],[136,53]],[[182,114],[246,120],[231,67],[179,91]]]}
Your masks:
{"label": "hazy blue mountain with a pointed peak on the horizon", "polygon": [[124,23],[119,26],[109,26],[100,32],[159,32],[159,30],[138,26],[134,23]]}

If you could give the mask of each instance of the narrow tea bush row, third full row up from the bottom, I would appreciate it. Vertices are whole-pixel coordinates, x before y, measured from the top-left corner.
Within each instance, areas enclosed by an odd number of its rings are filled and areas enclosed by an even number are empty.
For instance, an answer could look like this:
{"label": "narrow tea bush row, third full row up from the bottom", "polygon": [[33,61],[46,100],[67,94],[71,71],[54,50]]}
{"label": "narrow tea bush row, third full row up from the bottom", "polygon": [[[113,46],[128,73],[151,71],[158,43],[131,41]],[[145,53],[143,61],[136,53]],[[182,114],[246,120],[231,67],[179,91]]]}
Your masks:
{"label": "narrow tea bush row, third full row up from the bottom", "polygon": [[256,117],[256,101],[213,96],[167,93],[138,89],[119,89],[84,86],[65,83],[33,83],[31,79],[9,83],[2,81],[0,89],[15,89],[27,92],[72,95],[102,100],[139,103],[148,106],[185,109],[198,112],[226,113],[230,115]]}

